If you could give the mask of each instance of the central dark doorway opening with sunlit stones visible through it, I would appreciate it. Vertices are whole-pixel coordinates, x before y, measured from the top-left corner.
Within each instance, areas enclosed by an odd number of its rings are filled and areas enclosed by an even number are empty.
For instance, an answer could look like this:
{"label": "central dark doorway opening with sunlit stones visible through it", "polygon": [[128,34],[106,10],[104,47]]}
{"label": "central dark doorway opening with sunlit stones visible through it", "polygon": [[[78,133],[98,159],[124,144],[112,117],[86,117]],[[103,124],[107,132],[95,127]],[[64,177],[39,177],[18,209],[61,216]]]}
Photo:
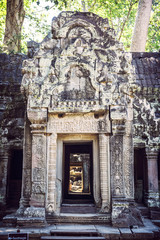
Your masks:
{"label": "central dark doorway opening with sunlit stones visible through it", "polygon": [[64,203],[93,202],[92,142],[64,144]]}

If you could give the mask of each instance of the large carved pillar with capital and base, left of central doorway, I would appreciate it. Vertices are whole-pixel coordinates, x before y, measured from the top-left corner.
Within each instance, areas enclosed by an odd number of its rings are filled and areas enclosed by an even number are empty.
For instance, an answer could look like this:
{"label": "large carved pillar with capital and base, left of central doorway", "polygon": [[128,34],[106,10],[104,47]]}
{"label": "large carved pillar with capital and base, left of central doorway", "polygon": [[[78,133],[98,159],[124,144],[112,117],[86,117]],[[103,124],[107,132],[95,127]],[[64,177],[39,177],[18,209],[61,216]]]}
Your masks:
{"label": "large carved pillar with capital and base, left of central doorway", "polygon": [[47,109],[28,109],[32,133],[31,198],[24,215],[45,217]]}

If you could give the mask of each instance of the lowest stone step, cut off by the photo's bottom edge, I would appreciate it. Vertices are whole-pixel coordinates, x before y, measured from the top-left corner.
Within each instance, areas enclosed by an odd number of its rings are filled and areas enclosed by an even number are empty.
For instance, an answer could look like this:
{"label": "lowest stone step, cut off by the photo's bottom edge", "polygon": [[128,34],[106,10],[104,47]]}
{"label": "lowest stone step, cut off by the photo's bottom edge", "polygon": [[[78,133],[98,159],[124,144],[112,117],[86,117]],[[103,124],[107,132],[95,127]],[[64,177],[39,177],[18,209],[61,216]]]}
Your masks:
{"label": "lowest stone step, cut off by the photo's bottom edge", "polygon": [[105,240],[104,237],[84,236],[43,236],[41,240]]}

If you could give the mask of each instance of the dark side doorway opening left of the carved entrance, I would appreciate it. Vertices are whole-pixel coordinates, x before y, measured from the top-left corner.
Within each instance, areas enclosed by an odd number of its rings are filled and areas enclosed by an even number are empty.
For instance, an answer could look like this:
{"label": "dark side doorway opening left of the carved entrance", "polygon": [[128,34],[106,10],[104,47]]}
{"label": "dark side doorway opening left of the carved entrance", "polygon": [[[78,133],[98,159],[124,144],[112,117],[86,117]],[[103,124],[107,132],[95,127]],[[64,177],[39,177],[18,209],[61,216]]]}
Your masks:
{"label": "dark side doorway opening left of the carved entrance", "polygon": [[22,186],[23,150],[12,150],[8,165],[7,207],[18,208]]}

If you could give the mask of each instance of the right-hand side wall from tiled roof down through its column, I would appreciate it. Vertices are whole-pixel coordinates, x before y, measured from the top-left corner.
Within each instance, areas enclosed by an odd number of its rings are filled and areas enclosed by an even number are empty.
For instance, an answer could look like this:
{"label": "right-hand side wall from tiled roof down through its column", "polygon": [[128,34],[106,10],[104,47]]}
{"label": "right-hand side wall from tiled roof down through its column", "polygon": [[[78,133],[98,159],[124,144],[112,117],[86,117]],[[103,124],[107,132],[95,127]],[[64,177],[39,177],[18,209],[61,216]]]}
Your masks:
{"label": "right-hand side wall from tiled roof down through its column", "polygon": [[133,139],[136,149],[144,149],[142,160],[146,176],[139,190],[144,192],[144,202],[148,207],[159,207],[160,53],[133,53],[132,59],[134,78],[138,85],[133,102]]}

